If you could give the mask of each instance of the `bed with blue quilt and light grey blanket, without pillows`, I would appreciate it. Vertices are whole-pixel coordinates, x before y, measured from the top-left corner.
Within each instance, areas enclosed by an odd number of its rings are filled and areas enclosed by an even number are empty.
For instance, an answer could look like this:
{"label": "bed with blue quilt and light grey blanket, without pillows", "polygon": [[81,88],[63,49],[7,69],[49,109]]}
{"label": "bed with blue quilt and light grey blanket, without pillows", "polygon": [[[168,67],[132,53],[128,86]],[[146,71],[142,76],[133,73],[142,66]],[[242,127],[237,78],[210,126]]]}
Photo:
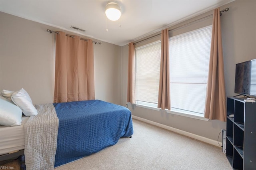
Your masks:
{"label": "bed with blue quilt and light grey blanket, without pillows", "polygon": [[[113,103],[100,100],[48,103],[36,105],[36,109],[38,115],[23,118],[22,125],[15,127],[19,129],[18,148],[0,152],[8,157],[14,150],[20,154],[23,151],[27,170],[53,169],[133,134],[130,110]],[[4,138],[8,138],[8,133]]]}

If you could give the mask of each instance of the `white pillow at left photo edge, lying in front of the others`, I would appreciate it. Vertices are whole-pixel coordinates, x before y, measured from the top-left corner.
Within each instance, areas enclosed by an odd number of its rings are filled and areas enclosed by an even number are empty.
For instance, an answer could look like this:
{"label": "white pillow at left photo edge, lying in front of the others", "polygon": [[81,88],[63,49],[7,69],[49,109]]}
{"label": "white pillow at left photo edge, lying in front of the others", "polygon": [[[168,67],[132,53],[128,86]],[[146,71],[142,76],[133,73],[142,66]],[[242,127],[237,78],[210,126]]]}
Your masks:
{"label": "white pillow at left photo edge, lying in front of the others", "polygon": [[0,96],[0,125],[18,126],[21,125],[22,110]]}

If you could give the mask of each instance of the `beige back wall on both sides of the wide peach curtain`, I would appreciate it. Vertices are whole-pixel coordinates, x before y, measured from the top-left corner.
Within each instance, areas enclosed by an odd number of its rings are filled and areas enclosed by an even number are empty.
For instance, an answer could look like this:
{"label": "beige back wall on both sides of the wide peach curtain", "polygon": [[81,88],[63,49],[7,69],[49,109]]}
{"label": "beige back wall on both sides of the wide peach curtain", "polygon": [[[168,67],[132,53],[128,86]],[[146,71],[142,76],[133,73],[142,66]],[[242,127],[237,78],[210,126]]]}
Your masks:
{"label": "beige back wall on both sides of the wide peach curtain", "polygon": [[[3,12],[0,22],[0,90],[23,87],[34,104],[52,103],[55,36],[46,29],[60,29]],[[96,99],[120,104],[120,55],[118,45],[94,44]]]}

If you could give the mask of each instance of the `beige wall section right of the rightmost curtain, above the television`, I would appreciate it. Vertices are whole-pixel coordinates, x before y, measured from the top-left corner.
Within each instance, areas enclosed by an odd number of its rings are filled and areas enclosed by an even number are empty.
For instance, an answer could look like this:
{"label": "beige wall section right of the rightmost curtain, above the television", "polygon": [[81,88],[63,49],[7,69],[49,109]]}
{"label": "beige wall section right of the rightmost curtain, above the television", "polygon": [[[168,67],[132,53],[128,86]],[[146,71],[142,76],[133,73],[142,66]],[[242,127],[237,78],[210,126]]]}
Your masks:
{"label": "beige wall section right of the rightmost curtain, above the television", "polygon": [[234,93],[236,63],[256,58],[256,0],[236,0],[223,6],[222,43],[226,94]]}

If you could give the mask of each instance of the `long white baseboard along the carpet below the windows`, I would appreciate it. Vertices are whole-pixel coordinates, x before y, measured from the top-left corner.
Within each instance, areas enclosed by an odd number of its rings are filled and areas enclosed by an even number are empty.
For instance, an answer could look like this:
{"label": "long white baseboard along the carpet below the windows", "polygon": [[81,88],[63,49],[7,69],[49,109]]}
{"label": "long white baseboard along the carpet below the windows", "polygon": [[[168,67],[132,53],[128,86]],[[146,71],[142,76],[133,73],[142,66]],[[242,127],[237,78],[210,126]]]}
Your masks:
{"label": "long white baseboard along the carpet below the windows", "polygon": [[156,122],[153,122],[153,121],[149,121],[147,119],[143,119],[143,118],[140,118],[140,117],[137,117],[137,116],[133,116],[133,115],[132,115],[132,118],[133,119],[137,119],[137,120],[142,121],[142,122],[145,122],[145,123],[148,123],[148,124],[151,124],[151,125],[155,125],[157,127],[161,127],[161,128],[164,128],[164,129],[167,129],[167,130],[179,133],[179,134],[183,134],[183,135],[188,136],[190,138],[194,138],[194,139],[200,140],[202,142],[206,142],[208,144],[212,144],[214,146],[218,146],[218,147],[222,146],[221,142],[218,143],[218,141],[216,141],[216,140],[212,140],[212,139],[209,139],[209,138],[206,138],[206,137],[203,137],[203,136],[199,136],[197,134],[193,134],[193,133],[190,133],[190,132],[186,132],[184,130],[180,130],[180,129],[177,129],[177,128],[169,127],[169,126],[166,126],[166,125],[163,125],[163,124],[160,124],[160,123],[156,123]]}

